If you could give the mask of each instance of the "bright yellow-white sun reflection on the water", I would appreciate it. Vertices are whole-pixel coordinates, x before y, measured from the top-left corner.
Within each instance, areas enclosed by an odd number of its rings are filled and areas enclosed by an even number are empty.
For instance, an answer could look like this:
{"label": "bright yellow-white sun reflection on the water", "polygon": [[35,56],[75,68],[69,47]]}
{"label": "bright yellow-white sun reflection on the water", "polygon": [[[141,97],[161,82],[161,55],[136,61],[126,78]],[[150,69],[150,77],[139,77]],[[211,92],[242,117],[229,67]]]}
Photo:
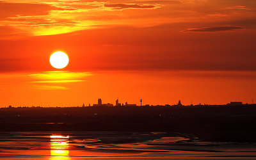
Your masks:
{"label": "bright yellow-white sun reflection on the water", "polygon": [[54,160],[54,159],[68,160],[68,159],[70,159],[69,150],[68,150],[69,136],[52,134],[50,137],[51,137],[51,157],[50,157],[50,159],[51,160]]}

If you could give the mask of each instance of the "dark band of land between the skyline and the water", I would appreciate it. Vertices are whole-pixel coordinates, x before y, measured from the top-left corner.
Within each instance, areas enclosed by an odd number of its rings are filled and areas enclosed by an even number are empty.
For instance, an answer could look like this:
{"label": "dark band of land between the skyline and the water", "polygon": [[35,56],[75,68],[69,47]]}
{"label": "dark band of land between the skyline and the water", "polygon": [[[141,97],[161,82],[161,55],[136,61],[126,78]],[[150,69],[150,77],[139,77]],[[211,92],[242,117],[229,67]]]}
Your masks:
{"label": "dark band of land between the skyline and the water", "polygon": [[256,105],[1,108],[0,131],[161,131],[256,142]]}

